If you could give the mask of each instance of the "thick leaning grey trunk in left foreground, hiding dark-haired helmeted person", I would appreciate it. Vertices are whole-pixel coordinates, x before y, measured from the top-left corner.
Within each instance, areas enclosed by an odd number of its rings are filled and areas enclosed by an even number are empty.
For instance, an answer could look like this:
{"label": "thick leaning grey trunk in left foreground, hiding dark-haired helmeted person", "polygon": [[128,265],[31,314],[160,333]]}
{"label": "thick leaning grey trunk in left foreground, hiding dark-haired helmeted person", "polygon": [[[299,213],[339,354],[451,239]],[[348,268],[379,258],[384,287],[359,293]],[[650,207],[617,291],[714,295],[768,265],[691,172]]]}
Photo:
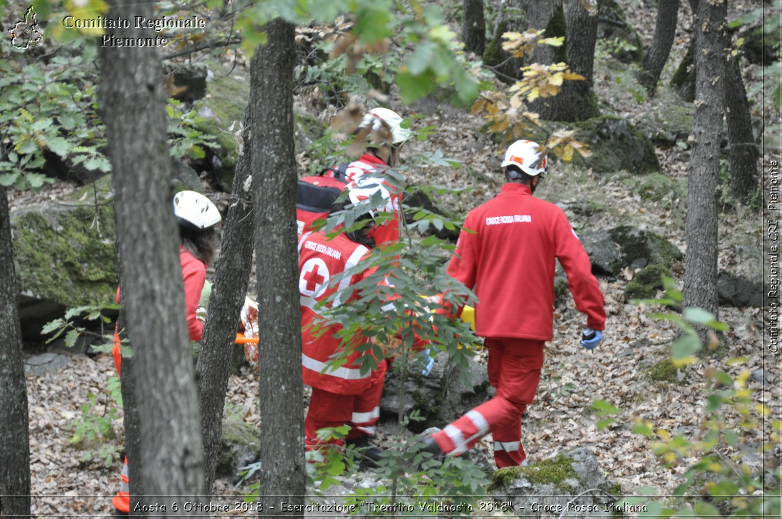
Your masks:
{"label": "thick leaning grey trunk in left foreground, hiding dark-haired helmeted person", "polygon": [[[152,2],[123,5],[111,16],[152,19]],[[118,38],[147,38],[115,29]],[[176,221],[168,196],[167,94],[156,48],[101,47],[101,106],[113,167],[120,286],[127,336],[134,345],[140,413],[142,503],[165,506],[201,496],[203,451]]]}

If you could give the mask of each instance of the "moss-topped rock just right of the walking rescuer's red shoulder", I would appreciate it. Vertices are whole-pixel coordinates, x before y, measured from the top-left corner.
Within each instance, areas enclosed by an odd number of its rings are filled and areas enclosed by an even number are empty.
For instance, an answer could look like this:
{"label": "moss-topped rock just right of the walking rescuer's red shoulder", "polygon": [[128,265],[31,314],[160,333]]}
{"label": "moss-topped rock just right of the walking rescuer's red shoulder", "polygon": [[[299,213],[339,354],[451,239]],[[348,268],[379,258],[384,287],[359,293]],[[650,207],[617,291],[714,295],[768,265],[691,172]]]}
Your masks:
{"label": "moss-topped rock just right of the walking rescuer's red shoulder", "polygon": [[683,258],[676,245],[652,231],[641,231],[630,225],[614,227],[608,234],[621,249],[621,259],[613,265],[618,273],[622,267],[643,268],[659,263],[670,268],[674,260]]}

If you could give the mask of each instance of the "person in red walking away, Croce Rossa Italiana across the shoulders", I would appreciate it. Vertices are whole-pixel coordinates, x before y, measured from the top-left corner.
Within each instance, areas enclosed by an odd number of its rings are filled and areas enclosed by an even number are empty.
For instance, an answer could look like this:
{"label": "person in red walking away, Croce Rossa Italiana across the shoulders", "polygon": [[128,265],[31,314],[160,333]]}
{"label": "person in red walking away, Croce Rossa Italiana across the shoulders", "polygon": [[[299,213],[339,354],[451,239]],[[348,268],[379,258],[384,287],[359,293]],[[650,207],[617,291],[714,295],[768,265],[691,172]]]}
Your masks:
{"label": "person in red walking away, Croce Rossa Italiana across the shoulders", "polygon": [[540,381],[543,342],[553,337],[554,258],[568,275],[576,308],[587,314],[581,345],[594,349],[603,338],[603,294],[589,256],[565,213],[533,196],[546,172],[539,149],[533,141],[508,148],[502,163],[508,182],[468,213],[448,265],[448,274],[478,297],[475,334],[486,338],[497,393],[424,438],[425,450],[436,456],[464,453],[491,432],[497,467],[525,461],[521,417]]}

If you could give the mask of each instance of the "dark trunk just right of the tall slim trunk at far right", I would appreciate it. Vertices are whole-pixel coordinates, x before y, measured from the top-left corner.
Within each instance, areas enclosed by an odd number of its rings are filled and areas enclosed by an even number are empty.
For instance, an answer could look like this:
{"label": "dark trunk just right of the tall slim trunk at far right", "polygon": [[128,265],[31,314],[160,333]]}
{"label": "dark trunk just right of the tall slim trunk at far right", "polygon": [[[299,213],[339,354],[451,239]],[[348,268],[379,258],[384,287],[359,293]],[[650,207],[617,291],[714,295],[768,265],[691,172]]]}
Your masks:
{"label": "dark trunk just right of the tall slim trunk at far right", "polygon": [[758,188],[758,147],[752,134],[739,57],[730,56],[725,65],[725,115],[730,145],[730,187],[736,199],[746,203]]}

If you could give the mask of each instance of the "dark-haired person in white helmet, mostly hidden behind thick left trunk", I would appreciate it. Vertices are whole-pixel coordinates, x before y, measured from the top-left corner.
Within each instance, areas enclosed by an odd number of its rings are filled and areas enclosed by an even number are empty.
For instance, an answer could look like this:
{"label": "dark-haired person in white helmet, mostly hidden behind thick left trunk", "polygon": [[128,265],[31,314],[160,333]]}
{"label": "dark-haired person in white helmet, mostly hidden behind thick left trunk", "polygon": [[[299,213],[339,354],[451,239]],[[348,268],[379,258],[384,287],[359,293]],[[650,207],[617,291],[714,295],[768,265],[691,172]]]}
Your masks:
{"label": "dark-haired person in white helmet, mostly hidden behind thick left trunk", "polygon": [[[182,267],[182,281],[185,285],[185,315],[191,340],[200,341],[203,323],[196,317],[201,291],[206,281],[206,266],[211,263],[215,252],[214,227],[221,222],[220,211],[206,196],[195,191],[179,191],[174,195],[174,216],[179,224],[179,261]],[[117,288],[117,302],[120,289]],[[114,366],[120,374],[122,354],[117,333],[114,334],[112,351]],[[128,479],[127,456],[125,456],[120,491],[113,497],[115,513],[127,515],[131,506],[130,483]]]}

